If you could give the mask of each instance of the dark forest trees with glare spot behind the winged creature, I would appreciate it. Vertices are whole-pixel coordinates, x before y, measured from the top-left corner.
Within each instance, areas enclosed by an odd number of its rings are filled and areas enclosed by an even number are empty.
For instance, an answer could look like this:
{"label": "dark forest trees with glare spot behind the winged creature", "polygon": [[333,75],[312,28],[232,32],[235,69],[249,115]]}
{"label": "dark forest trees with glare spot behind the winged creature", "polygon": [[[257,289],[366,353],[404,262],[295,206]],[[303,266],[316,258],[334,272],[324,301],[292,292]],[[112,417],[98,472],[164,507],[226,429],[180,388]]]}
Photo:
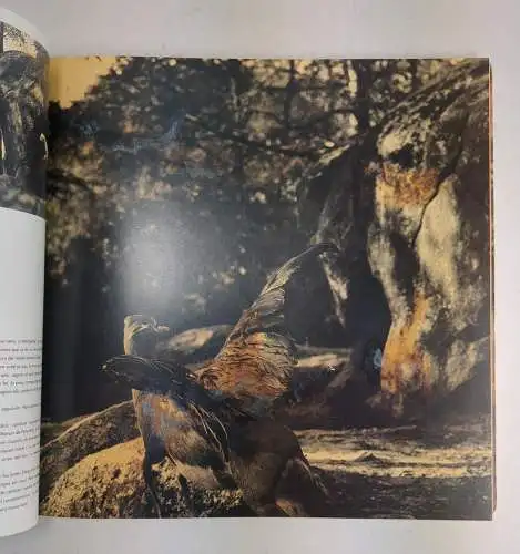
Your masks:
{"label": "dark forest trees with glare spot behind the winged creature", "polygon": [[[126,398],[99,368],[128,314],[176,332],[234,322],[316,232],[315,177],[456,63],[120,58],[52,102],[43,417]],[[298,294],[296,339],[347,347],[318,265]]]}

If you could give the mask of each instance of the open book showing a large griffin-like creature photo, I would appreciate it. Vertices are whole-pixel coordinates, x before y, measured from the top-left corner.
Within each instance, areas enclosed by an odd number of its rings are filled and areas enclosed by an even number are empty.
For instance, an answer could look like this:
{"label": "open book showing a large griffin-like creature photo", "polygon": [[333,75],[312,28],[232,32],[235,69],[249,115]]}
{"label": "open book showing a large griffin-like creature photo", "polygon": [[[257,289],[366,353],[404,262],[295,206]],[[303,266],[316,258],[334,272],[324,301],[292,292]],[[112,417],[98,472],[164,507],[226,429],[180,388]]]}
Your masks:
{"label": "open book showing a large griffin-like creature photo", "polygon": [[0,534],[488,520],[490,65],[49,59],[0,23]]}

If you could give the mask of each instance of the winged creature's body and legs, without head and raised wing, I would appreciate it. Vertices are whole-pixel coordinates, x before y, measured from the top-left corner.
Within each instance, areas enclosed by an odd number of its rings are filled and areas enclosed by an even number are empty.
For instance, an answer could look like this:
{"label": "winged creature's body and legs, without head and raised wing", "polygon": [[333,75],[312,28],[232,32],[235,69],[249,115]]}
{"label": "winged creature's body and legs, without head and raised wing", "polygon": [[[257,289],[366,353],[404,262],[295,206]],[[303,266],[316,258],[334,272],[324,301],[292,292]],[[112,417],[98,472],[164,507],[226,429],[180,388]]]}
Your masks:
{"label": "winged creature's body and legs, without head and raised wing", "polygon": [[[174,463],[212,468],[221,482],[239,486],[257,515],[326,513],[327,492],[287,427],[245,412],[236,399],[204,389],[194,373],[171,361],[126,355],[112,358],[104,370],[146,391],[134,400],[147,452],[144,475],[157,511],[151,464],[164,452]],[[187,481],[182,475],[180,481],[188,497]]]}

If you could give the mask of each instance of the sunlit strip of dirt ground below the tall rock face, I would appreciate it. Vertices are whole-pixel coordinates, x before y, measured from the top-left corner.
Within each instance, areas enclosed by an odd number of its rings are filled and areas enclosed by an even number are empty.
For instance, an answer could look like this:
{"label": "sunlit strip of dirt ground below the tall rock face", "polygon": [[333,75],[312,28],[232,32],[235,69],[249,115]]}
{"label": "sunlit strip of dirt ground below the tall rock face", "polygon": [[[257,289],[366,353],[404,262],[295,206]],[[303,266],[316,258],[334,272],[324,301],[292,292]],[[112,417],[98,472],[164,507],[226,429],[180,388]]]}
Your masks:
{"label": "sunlit strip of dirt ground below the tall rock face", "polygon": [[298,432],[337,517],[487,520],[492,505],[488,425]]}

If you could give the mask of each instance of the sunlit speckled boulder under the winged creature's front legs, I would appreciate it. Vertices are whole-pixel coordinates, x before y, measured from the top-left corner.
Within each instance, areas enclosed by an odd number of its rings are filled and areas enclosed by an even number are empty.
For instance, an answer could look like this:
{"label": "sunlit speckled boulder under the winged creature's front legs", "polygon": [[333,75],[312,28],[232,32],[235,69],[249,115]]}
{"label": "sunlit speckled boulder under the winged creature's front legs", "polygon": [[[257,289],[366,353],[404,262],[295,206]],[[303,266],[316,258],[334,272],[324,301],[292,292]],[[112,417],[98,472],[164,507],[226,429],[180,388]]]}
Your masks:
{"label": "sunlit speckled boulder under the winged creature's front legs", "polygon": [[[143,479],[141,439],[91,454],[67,470],[41,504],[42,515],[61,517],[153,517]],[[205,516],[252,515],[238,491],[220,489],[213,473],[179,466],[188,479],[195,512]],[[180,494],[177,469],[165,461],[156,471],[163,515],[190,515]]]}

